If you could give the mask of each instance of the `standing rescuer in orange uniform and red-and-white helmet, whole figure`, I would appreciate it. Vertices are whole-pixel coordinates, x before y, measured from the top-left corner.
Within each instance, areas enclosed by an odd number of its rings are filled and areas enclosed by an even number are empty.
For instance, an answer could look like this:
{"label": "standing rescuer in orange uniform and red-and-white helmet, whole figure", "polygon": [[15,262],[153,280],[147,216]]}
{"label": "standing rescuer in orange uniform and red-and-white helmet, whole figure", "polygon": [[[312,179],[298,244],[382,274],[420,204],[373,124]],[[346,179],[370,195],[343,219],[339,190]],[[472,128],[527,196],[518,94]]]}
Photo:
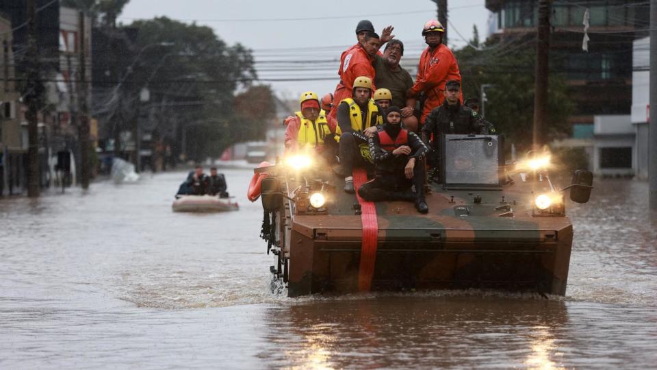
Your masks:
{"label": "standing rescuer in orange uniform and red-and-white helmet, whole figure", "polygon": [[[441,106],[445,100],[443,91],[446,82],[452,79],[461,82],[459,64],[456,63],[456,58],[447,45],[443,45],[444,33],[445,28],[435,19],[428,21],[422,29],[422,36],[428,47],[420,56],[415,84],[407,92],[407,97],[415,97],[423,91],[426,95],[424,110],[420,117],[422,123],[429,112]],[[459,100],[463,101],[463,95]]]}

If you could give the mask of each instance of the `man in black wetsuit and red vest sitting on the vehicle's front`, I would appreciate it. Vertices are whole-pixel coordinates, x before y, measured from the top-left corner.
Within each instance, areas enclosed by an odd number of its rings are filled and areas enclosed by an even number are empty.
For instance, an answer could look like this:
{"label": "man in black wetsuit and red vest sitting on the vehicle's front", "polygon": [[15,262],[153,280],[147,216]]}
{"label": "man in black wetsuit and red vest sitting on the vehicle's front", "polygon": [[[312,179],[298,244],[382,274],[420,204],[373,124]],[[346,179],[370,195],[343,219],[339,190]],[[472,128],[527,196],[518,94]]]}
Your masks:
{"label": "man in black wetsuit and red vest sitting on the vehicle's front", "polygon": [[[383,130],[369,140],[374,161],[374,180],[358,189],[368,201],[414,201],[420,213],[428,212],[424,198],[424,169],[422,160],[428,147],[415,132],[401,127],[402,113],[396,106],[385,111]],[[411,187],[415,186],[415,191]]]}

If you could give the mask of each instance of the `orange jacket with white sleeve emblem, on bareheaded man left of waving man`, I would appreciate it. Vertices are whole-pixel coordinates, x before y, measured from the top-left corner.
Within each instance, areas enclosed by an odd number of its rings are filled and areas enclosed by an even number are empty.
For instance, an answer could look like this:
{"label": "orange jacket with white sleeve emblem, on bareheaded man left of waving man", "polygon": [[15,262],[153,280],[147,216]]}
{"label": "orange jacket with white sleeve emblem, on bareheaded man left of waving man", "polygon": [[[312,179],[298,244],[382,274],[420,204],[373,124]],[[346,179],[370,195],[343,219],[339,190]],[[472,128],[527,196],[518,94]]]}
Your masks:
{"label": "orange jacket with white sleeve emblem, on bareheaded man left of waving man", "polygon": [[[337,107],[342,99],[352,96],[354,80],[357,77],[367,76],[374,81],[372,61],[373,59],[368,56],[368,53],[360,44],[353,45],[342,53],[342,56],[340,56],[340,69],[337,71],[337,74],[340,75],[340,82],[335,86],[333,106]],[[374,85],[372,87],[375,88]],[[335,119],[336,114],[337,109],[332,109],[329,117]]]}

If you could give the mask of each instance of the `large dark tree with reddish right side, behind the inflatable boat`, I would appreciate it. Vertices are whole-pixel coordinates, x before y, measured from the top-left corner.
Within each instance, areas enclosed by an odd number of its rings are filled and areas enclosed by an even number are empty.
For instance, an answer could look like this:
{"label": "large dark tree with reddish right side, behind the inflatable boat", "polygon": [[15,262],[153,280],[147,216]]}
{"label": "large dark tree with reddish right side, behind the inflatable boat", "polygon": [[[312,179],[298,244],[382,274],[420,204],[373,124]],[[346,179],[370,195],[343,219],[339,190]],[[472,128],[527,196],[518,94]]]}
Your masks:
{"label": "large dark tree with reddish right side, behind the inflatable boat", "polygon": [[[149,116],[166,119],[146,128],[163,139],[179,140],[179,152],[195,160],[220,156],[225,148],[263,134],[273,97],[268,86],[251,86],[257,75],[250,50],[226,45],[209,27],[166,17],[131,27],[138,29],[138,38],[132,72],[125,79],[127,100],[133,102],[126,104],[127,114],[148,86]],[[244,93],[235,97],[239,88]]]}

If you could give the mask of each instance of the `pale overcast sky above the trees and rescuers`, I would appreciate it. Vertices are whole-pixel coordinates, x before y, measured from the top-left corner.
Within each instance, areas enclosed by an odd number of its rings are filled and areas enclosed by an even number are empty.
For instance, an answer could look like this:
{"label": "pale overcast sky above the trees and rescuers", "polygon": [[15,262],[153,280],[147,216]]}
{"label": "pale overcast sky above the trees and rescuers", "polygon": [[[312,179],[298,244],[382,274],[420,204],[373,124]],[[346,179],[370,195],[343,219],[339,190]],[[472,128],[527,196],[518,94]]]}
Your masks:
{"label": "pale overcast sky above the trees and rescuers", "polygon": [[[480,38],[487,36],[489,12],[484,3],[448,1],[452,49],[465,46],[475,24]],[[393,33],[405,45],[402,64],[416,65],[426,47],[422,26],[436,17],[436,5],[429,0],[131,0],[119,20],[129,24],[136,18],[154,16],[196,21],[212,27],[230,45],[240,42],[253,50],[263,83],[270,84],[280,97],[296,98],[306,90],[319,95],[333,92],[340,53],[356,42],[354,31],[360,19],[370,19],[377,32],[394,25]],[[313,78],[322,80],[289,81]],[[288,81],[274,81],[279,79]]]}

